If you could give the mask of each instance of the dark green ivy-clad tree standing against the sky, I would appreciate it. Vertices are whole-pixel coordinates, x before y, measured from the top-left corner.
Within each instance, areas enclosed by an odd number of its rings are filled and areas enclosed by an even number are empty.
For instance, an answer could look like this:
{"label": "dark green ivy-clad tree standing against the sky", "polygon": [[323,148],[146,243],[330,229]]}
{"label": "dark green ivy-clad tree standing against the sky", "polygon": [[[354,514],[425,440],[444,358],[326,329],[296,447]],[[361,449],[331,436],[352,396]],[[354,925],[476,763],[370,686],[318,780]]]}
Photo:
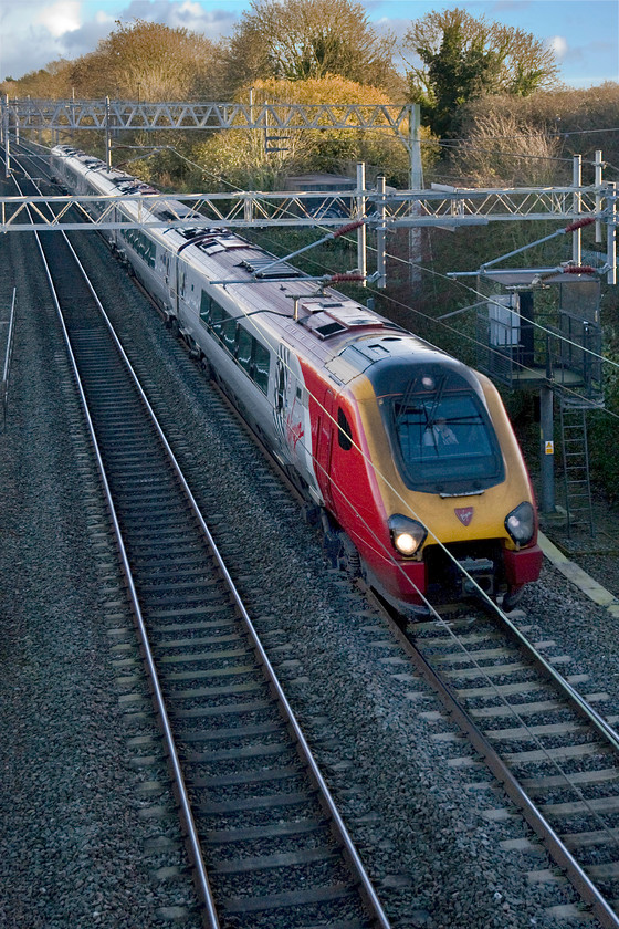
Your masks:
{"label": "dark green ivy-clad tree standing against the sky", "polygon": [[555,53],[528,32],[475,19],[464,10],[428,13],[405,36],[419,64],[408,72],[410,97],[441,137],[459,132],[459,107],[486,94],[527,96],[556,86]]}

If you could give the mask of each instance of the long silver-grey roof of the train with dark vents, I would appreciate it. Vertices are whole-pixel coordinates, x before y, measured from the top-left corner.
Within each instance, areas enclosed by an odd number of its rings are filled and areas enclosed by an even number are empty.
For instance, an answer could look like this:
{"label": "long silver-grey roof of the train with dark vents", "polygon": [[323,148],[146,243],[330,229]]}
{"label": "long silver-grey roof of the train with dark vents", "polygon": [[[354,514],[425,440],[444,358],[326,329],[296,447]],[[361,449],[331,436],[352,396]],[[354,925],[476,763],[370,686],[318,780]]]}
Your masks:
{"label": "long silver-grey roof of the train with dark vents", "polygon": [[[93,173],[101,188],[128,192],[158,192],[135,177],[71,146],[54,152],[77,160],[84,173]],[[129,208],[130,203],[127,203]],[[266,337],[271,332],[285,338],[308,361],[326,367],[343,384],[371,365],[453,363],[444,352],[375,313],[332,286],[310,279],[285,259],[279,259],[235,232],[191,226],[196,211],[170,198],[155,203],[150,212],[160,220],[187,219],[187,227],[150,229],[149,234],[182,255],[188,267],[202,274],[220,293],[227,294],[239,315],[253,319]],[[214,296],[214,294],[213,294]],[[355,345],[356,353],[345,349]],[[462,365],[462,367],[464,367]]]}

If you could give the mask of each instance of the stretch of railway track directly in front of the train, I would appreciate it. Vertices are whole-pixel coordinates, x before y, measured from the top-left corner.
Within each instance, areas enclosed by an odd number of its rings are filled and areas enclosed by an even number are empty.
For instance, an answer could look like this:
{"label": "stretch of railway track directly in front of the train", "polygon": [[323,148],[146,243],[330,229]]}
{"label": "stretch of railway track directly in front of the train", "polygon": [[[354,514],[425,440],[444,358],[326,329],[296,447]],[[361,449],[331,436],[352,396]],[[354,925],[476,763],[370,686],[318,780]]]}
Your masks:
{"label": "stretch of railway track directly in front of the train", "polygon": [[569,656],[499,612],[388,620],[591,912],[619,927],[619,716],[600,712],[616,709],[609,695],[581,695],[587,676],[559,672]]}

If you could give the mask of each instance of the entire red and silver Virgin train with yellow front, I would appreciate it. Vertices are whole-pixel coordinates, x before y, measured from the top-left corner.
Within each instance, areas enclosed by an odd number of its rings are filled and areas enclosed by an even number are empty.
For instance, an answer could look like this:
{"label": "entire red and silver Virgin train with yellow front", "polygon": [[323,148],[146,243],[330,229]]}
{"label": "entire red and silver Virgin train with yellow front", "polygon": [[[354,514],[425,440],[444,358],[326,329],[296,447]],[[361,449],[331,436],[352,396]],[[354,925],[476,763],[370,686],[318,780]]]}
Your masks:
{"label": "entire red and silver Virgin train with yellow front", "polygon": [[[117,196],[128,219],[124,195],[154,192],[69,146],[52,160],[67,189]],[[332,556],[400,608],[476,585],[511,606],[542,552],[491,382],[234,232],[193,228],[182,203],[174,213],[187,226],[114,230],[113,246],[319,508]]]}

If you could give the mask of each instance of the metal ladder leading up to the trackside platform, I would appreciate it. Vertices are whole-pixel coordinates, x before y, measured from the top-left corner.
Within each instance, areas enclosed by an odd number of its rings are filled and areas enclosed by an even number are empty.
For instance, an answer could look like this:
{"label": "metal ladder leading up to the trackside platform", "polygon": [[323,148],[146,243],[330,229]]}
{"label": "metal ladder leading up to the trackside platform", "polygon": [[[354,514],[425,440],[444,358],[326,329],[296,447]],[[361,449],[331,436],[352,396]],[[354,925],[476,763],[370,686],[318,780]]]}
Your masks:
{"label": "metal ladder leading up to the trackside platform", "polygon": [[562,398],[559,409],[567,534],[571,537],[577,530],[595,535],[585,407]]}

